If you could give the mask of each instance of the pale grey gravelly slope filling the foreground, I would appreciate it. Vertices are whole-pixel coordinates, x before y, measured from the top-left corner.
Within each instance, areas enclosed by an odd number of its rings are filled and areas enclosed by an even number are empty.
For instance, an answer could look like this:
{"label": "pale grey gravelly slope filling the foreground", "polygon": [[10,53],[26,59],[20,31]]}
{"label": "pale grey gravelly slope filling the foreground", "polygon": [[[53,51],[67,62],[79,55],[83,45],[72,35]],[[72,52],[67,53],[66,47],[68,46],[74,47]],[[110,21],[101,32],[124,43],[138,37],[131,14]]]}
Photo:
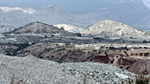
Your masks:
{"label": "pale grey gravelly slope filling the foreground", "polygon": [[100,63],[61,63],[33,56],[8,57],[0,55],[0,82],[10,84],[106,84],[121,83],[134,74]]}

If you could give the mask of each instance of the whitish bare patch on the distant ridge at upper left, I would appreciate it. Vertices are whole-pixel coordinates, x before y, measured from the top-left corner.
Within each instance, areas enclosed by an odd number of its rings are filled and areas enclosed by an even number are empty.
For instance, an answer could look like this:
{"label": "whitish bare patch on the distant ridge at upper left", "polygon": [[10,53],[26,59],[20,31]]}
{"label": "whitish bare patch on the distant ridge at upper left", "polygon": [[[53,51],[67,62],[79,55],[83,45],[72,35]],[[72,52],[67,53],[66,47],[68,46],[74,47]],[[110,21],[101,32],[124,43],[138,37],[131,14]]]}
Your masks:
{"label": "whitish bare patch on the distant ridge at upper left", "polygon": [[10,11],[22,11],[24,13],[28,13],[28,14],[33,14],[35,12],[34,9],[32,8],[21,8],[21,7],[7,7],[7,6],[2,6],[0,7],[0,10],[4,11],[4,12],[10,12]]}

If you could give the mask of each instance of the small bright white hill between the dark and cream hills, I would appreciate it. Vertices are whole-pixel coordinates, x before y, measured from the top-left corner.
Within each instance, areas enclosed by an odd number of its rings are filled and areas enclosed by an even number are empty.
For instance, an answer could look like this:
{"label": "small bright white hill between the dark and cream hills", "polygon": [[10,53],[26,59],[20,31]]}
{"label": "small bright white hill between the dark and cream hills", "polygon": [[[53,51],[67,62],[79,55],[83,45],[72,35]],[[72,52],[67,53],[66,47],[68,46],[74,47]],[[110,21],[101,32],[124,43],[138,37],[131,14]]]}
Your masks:
{"label": "small bright white hill between the dark and cream hills", "polygon": [[79,33],[79,32],[84,30],[83,28],[76,27],[76,26],[73,26],[73,25],[67,25],[67,24],[57,24],[57,25],[54,25],[54,26],[56,26],[58,28],[63,27],[66,31],[73,32],[73,33]]}

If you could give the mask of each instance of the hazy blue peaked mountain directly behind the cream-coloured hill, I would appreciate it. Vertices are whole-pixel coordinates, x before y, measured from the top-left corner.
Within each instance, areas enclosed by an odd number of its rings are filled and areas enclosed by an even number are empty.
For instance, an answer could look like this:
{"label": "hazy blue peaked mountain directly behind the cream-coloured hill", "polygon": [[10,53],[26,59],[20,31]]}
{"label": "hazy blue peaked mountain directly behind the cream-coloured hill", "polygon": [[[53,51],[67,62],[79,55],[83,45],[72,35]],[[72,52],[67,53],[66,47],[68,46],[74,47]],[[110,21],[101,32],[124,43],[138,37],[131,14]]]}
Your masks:
{"label": "hazy blue peaked mountain directly behind the cream-coloured hill", "polygon": [[[91,26],[100,20],[114,20],[130,25],[136,29],[149,30],[150,9],[141,0],[118,0],[109,3],[110,0],[102,1],[103,6],[97,10],[74,17]],[[108,3],[109,5],[106,5]]]}

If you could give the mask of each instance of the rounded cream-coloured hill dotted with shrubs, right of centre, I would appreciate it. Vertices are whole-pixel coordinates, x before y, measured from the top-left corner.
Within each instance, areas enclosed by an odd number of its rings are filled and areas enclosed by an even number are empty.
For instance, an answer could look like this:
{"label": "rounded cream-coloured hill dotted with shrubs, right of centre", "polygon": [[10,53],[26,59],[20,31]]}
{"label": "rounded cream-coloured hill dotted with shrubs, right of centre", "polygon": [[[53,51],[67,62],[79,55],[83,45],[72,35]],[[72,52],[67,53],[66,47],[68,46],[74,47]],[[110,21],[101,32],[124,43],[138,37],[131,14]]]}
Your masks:
{"label": "rounded cream-coloured hill dotted with shrubs, right of centre", "polygon": [[[99,21],[98,23],[94,24],[93,26],[89,27],[88,29],[81,32],[82,35],[85,36],[95,36],[99,35],[100,37],[131,37],[131,36],[142,36],[143,32],[133,29],[132,27],[125,25],[120,22],[116,21]],[[109,34],[111,35],[109,35]],[[109,35],[109,36],[108,36]],[[111,38],[111,37],[110,37]]]}

